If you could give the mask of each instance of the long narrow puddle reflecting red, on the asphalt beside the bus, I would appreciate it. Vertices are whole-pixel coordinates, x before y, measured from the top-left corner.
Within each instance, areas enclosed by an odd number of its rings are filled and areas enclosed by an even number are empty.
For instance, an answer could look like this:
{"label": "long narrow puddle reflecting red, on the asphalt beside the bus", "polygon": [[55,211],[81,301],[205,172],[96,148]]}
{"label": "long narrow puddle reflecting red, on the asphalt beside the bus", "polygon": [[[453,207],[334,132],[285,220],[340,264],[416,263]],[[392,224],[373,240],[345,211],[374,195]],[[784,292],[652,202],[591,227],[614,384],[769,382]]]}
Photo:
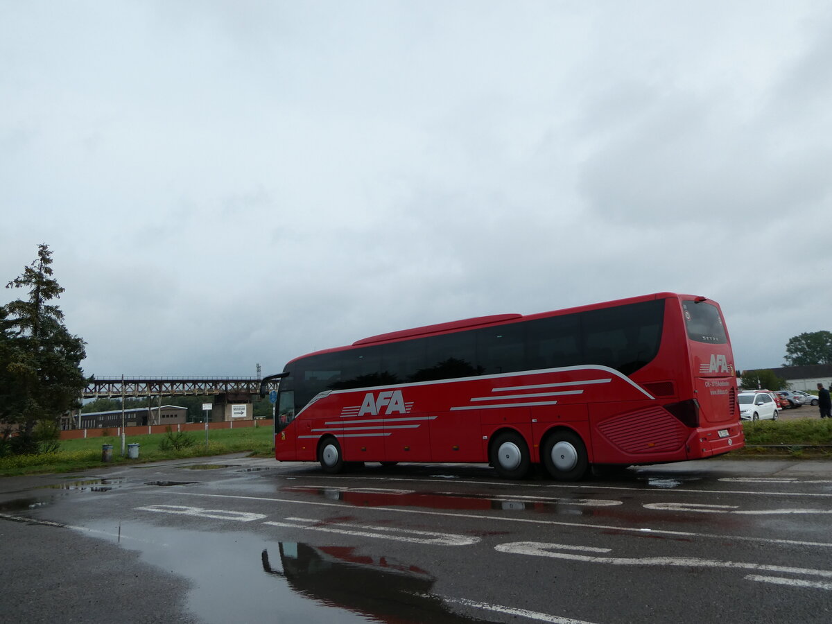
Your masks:
{"label": "long narrow puddle reflecting red, on the asphalt beside the bus", "polygon": [[342,501],[356,507],[420,507],[453,510],[535,511],[582,515],[585,508],[610,507],[620,501],[588,498],[553,498],[542,496],[460,496],[450,492],[414,492],[389,488],[334,488],[321,486],[287,486],[286,493],[305,493]]}

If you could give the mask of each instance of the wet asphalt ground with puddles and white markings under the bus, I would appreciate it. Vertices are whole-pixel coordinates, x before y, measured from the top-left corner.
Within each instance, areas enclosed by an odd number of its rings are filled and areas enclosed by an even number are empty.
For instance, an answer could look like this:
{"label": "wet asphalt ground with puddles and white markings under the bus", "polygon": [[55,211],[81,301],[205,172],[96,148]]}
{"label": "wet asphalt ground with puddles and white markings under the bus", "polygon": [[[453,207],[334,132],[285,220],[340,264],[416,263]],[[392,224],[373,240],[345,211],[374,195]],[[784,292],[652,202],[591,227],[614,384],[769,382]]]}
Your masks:
{"label": "wet asphalt ground with puddles and white markings under the bus", "polygon": [[0,479],[0,622],[832,622],[832,462]]}

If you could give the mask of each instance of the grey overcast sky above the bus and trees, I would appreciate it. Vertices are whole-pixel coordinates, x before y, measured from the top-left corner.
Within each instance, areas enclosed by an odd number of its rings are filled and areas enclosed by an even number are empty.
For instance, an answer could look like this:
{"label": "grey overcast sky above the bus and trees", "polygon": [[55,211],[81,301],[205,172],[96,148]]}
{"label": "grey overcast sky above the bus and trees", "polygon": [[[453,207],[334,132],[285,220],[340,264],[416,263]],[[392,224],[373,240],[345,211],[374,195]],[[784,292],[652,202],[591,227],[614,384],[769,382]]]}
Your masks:
{"label": "grey overcast sky above the bus and trees", "polygon": [[832,3],[0,0],[0,211],[87,374],[665,290],[777,367],[832,329]]}

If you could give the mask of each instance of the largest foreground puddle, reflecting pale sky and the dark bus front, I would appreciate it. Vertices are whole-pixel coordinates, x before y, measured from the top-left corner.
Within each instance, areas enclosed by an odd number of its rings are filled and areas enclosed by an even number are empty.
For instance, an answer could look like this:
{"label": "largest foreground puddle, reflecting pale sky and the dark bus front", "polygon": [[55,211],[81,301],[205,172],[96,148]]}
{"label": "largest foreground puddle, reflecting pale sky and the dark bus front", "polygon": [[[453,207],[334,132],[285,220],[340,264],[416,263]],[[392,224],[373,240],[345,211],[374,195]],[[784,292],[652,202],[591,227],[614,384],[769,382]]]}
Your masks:
{"label": "largest foreground puddle, reflecting pale sky and the dark bus front", "polygon": [[487,622],[452,612],[430,593],[434,578],[428,572],[354,547],[312,547],[245,532],[143,522],[121,522],[119,529],[116,521],[96,521],[85,532],[140,552],[142,561],[189,582],[186,608],[207,624]]}

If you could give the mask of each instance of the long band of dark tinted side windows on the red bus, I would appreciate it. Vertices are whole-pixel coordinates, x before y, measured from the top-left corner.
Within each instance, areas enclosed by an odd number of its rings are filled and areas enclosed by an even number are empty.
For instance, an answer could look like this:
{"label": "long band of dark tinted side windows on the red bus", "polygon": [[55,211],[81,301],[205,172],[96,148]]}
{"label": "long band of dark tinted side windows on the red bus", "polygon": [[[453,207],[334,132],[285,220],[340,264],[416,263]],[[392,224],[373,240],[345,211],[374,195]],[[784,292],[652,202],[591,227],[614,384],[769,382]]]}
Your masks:
{"label": "long band of dark tinted side windows on the red bus", "polygon": [[[712,306],[711,306],[712,307]],[[281,389],[300,410],[324,390],[601,364],[631,374],[656,357],[665,300],[374,344],[293,364]]]}

